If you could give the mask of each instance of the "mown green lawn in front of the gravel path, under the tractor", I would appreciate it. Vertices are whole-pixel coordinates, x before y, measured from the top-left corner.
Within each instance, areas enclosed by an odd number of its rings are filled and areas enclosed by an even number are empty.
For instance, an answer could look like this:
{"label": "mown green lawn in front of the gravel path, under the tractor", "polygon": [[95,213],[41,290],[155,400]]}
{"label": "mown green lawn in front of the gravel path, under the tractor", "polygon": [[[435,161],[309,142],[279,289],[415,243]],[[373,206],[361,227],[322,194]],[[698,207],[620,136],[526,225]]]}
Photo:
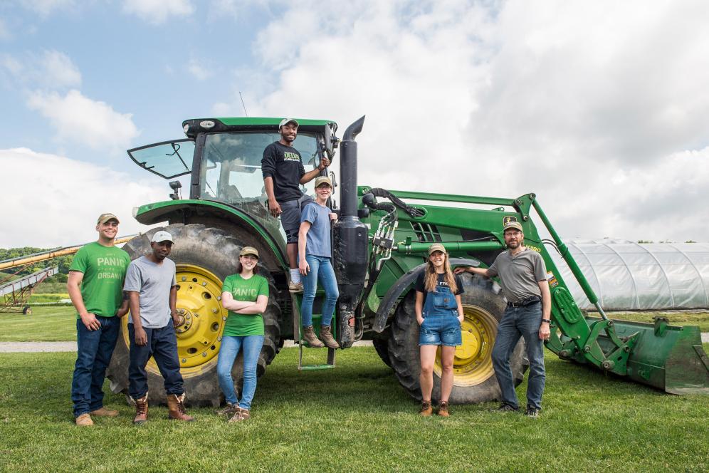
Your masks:
{"label": "mown green lawn in front of the gravel path, under the tractor", "polygon": [[[310,350],[309,358],[325,353]],[[130,423],[120,416],[73,425],[73,353],[0,354],[0,469],[4,471],[603,472],[709,469],[709,396],[674,396],[558,360],[547,353],[537,420],[451,407],[421,418],[373,348],[337,354],[335,370],[298,373],[297,350],[275,358],[258,383],[248,422],[207,408],[196,422]],[[188,393],[189,395],[189,393]],[[523,399],[525,385],[518,395]]]}

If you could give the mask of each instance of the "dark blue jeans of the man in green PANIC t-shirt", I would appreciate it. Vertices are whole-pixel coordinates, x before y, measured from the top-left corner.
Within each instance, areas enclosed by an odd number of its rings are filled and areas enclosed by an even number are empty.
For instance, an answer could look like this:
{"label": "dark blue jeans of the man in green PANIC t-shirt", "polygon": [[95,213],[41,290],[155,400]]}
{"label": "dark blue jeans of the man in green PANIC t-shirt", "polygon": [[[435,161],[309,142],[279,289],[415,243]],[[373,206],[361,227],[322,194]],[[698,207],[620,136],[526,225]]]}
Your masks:
{"label": "dark blue jeans of the man in green PANIC t-shirt", "polygon": [[90,331],[81,319],[76,321],[78,353],[71,381],[74,417],[103,407],[103,380],[118,340],[120,318],[96,316],[101,328]]}

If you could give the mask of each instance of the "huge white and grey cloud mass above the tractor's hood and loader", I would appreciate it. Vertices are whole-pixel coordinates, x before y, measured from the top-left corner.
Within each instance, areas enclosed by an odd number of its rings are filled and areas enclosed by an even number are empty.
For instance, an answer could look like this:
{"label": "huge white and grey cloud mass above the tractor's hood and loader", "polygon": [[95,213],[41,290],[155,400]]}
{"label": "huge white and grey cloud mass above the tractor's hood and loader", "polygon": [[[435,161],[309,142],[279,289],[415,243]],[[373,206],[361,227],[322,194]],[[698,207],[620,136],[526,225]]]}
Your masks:
{"label": "huge white and grey cloud mass above the tractor's hood and loader", "polygon": [[708,23],[703,1],[301,1],[238,87],[340,134],[366,113],[362,184],[536,192],[562,237],[706,241]]}

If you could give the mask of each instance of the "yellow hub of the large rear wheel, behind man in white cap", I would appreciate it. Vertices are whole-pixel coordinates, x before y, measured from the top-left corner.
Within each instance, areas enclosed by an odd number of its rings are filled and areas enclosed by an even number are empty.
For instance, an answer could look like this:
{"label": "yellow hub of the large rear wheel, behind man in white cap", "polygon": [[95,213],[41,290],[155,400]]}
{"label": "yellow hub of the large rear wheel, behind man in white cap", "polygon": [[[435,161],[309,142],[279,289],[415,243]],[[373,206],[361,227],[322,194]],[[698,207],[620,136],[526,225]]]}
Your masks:
{"label": "yellow hub of the large rear wheel, behind man in white cap", "polygon": [[[229,314],[221,306],[221,280],[199,266],[177,265],[177,355],[183,376],[199,374],[216,364],[221,334]],[[127,323],[127,317],[125,322]],[[128,344],[128,331],[123,331]],[[153,358],[147,370],[159,374]]]}

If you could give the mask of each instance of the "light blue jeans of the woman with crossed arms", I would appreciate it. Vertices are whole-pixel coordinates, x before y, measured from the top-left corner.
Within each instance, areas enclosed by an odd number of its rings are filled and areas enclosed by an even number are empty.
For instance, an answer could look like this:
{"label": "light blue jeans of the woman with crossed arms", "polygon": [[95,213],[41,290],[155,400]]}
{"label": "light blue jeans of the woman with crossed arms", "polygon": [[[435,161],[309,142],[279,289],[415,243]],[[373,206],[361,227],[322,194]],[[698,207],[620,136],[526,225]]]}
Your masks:
{"label": "light blue jeans of the woman with crossed arms", "polygon": [[261,347],[263,347],[263,335],[224,336],[221,339],[219,359],[216,362],[216,376],[219,378],[219,387],[224,393],[224,399],[229,404],[235,405],[237,402],[234,380],[231,378],[231,368],[236,360],[236,355],[243,348],[243,389],[238,407],[251,409],[253,393],[256,393],[256,364]]}

